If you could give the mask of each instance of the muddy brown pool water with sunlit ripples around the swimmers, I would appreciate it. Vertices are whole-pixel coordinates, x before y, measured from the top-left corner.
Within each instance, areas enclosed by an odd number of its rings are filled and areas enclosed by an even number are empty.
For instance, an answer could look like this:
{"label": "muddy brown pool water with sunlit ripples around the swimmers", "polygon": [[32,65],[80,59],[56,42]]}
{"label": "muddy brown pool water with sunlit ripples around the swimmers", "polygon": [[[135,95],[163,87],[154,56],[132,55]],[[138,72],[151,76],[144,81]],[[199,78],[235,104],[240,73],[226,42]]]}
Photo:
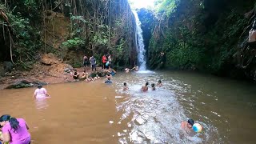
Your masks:
{"label": "muddy brown pool water with sunlit ripples around the swimmers", "polygon": [[[139,91],[158,79],[162,88]],[[1,90],[0,114],[25,118],[33,144],[256,142],[253,84],[179,71],[121,73],[113,82],[45,86],[52,98],[43,101],[32,98],[34,88]],[[201,123],[202,133],[181,130],[187,118]]]}

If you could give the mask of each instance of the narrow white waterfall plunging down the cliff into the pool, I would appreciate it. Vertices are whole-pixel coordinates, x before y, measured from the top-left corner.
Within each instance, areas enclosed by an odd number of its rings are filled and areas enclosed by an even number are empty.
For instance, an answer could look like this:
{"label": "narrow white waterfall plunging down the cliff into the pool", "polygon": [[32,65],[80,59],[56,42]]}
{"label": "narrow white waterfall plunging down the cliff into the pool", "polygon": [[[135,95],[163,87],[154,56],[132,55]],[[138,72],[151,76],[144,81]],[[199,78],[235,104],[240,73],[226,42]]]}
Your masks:
{"label": "narrow white waterfall plunging down the cliff into the pool", "polygon": [[136,21],[136,28],[135,28],[135,40],[136,40],[136,48],[138,51],[138,66],[139,70],[146,70],[146,59],[145,59],[145,46],[142,37],[142,23],[138,19],[138,14],[135,10],[133,10],[135,21]]}

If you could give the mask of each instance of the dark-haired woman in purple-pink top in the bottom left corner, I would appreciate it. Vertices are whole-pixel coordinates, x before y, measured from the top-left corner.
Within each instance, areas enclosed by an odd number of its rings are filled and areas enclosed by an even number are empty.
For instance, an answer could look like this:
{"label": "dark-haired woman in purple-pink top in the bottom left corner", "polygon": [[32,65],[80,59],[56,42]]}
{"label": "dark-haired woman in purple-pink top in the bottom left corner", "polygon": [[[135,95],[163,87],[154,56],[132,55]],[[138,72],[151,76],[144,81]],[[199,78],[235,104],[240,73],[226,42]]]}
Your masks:
{"label": "dark-haired woman in purple-pink top in the bottom left corner", "polygon": [[10,144],[30,144],[29,127],[23,118],[11,118],[10,115],[2,115],[0,118],[0,125],[2,126],[3,142],[10,142]]}

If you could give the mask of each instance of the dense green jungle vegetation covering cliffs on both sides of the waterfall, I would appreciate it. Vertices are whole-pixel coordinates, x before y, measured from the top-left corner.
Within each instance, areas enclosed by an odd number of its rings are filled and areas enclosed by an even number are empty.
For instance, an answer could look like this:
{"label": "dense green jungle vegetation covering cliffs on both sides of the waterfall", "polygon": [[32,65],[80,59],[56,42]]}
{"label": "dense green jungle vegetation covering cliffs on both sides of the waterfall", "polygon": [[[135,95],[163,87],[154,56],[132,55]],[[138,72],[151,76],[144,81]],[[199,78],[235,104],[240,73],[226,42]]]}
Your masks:
{"label": "dense green jungle vegetation covering cliffs on both sides of the waterfall", "polygon": [[[0,74],[31,70],[45,54],[82,66],[82,56],[114,67],[138,63],[134,14],[127,0],[2,0]],[[248,33],[253,0],[159,0],[137,9],[150,70],[197,70],[255,81]],[[162,53],[162,54],[161,54]]]}

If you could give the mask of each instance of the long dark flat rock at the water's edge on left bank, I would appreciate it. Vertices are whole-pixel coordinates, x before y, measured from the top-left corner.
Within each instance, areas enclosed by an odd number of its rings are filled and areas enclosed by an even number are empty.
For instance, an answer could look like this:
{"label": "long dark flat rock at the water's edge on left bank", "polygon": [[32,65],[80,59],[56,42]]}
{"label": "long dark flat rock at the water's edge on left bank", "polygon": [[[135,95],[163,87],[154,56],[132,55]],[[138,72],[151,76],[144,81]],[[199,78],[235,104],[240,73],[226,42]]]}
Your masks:
{"label": "long dark flat rock at the water's edge on left bank", "polygon": [[11,84],[10,86],[7,86],[6,89],[20,89],[20,88],[24,88],[24,87],[36,87],[36,86],[43,86],[43,85],[47,85],[46,82],[33,82],[33,81],[27,81],[27,80],[21,80],[18,82],[14,82],[13,84]]}

